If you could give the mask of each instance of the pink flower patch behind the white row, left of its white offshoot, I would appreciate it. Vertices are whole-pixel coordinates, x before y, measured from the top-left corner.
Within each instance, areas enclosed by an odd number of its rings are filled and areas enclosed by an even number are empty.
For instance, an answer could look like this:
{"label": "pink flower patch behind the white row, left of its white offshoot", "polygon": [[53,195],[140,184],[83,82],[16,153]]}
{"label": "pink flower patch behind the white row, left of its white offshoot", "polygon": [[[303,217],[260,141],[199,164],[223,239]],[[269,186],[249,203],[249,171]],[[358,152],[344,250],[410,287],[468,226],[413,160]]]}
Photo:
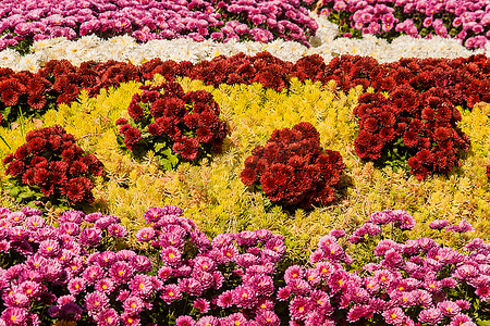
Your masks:
{"label": "pink flower patch behind the white row, left of its white offshoot", "polygon": [[274,38],[308,45],[318,25],[298,1],[216,0],[4,0],[0,7],[0,50],[53,37],[76,39],[131,35],[151,39],[211,38],[267,42]]}

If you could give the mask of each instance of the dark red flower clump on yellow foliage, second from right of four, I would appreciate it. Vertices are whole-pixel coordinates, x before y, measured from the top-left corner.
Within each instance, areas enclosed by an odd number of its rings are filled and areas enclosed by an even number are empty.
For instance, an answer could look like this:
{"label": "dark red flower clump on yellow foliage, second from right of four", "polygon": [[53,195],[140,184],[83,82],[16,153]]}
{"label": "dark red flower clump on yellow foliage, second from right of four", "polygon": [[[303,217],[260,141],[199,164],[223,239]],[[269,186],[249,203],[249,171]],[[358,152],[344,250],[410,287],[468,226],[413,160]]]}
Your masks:
{"label": "dark red flower clump on yellow foliage, second from right of four", "polygon": [[240,174],[248,186],[261,187],[272,202],[309,209],[335,200],[345,165],[336,151],[320,147],[320,134],[306,122],[274,130],[265,146],[253,150]]}

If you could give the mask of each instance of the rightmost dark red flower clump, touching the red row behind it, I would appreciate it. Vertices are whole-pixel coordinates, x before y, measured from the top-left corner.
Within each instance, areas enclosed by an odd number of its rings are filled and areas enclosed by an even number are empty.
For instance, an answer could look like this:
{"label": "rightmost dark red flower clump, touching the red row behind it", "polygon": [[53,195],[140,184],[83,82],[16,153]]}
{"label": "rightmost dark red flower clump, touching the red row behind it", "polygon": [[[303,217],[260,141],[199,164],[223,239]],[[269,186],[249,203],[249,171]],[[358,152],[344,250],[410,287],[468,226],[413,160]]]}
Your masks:
{"label": "rightmost dark red flower clump, touching the red row behind it", "polygon": [[362,95],[354,109],[360,128],[354,141],[357,155],[385,163],[388,152],[405,153],[417,179],[460,166],[458,152],[469,148],[469,138],[457,127],[460,111],[441,92],[431,88],[418,93],[402,85],[390,98]]}

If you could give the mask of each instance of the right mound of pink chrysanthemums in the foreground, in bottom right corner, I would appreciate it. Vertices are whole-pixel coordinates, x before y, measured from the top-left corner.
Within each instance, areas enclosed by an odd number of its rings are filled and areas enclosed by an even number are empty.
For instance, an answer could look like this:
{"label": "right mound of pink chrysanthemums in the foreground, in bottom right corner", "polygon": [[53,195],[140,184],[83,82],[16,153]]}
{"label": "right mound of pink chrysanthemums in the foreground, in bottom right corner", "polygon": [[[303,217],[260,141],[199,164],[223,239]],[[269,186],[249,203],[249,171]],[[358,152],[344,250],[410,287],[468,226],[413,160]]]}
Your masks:
{"label": "right mound of pink chrysanthemums in the foreground, in bottom right corner", "polygon": [[[347,240],[343,230],[322,237],[308,266],[287,267],[286,286],[278,290],[289,302],[290,325],[477,325],[471,316],[489,305],[490,247],[475,239],[462,253],[430,238],[397,242],[385,236],[394,229],[403,238],[414,226],[406,212],[388,210],[373,213]],[[346,253],[350,246],[364,253],[357,255],[360,269]]]}

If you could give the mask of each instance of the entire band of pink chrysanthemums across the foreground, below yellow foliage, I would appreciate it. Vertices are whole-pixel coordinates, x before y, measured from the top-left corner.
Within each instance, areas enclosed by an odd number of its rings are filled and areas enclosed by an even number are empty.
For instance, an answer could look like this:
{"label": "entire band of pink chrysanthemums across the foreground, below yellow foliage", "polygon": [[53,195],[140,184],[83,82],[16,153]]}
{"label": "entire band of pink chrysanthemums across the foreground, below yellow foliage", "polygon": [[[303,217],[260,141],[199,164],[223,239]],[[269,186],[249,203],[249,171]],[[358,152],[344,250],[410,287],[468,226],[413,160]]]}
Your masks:
{"label": "entire band of pink chrysanthemums across the foreground, below yellow foliage", "polygon": [[[462,253],[430,238],[397,242],[415,225],[404,211],[375,213],[348,238],[333,229],[307,265],[282,267],[283,237],[270,230],[210,240],[173,205],[149,209],[145,221],[128,235],[101,213],[68,211],[53,227],[38,210],[0,209],[0,323],[476,325],[490,298],[489,244],[475,239]],[[431,227],[471,230],[465,221]],[[385,237],[390,228],[397,238]],[[154,250],[110,249],[130,237]],[[357,247],[369,261],[346,253]],[[289,314],[279,313],[284,303]]]}

